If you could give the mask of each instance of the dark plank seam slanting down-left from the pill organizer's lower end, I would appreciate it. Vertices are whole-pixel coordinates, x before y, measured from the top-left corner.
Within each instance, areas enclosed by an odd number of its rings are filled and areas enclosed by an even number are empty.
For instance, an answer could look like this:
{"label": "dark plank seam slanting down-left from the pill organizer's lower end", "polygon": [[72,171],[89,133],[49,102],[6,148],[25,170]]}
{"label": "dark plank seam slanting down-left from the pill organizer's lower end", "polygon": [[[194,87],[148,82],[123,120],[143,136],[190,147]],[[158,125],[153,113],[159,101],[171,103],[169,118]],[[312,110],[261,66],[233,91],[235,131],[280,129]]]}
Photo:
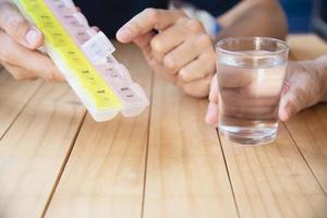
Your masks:
{"label": "dark plank seam slanting down-left from the pill organizer's lower end", "polygon": [[81,131],[81,129],[82,129],[82,126],[83,126],[83,123],[84,123],[84,121],[85,121],[86,114],[87,114],[87,112],[85,111],[85,114],[84,114],[83,119],[81,120],[81,123],[80,123],[80,125],[78,125],[78,129],[77,129],[77,131],[76,131],[76,133],[75,133],[75,135],[74,135],[74,138],[72,140],[71,147],[70,147],[70,149],[68,150],[68,154],[66,154],[66,156],[65,156],[65,158],[64,158],[64,160],[63,160],[63,164],[62,164],[62,166],[61,166],[61,169],[60,169],[60,171],[59,171],[59,173],[58,173],[58,177],[57,177],[57,179],[56,179],[56,182],[55,182],[55,184],[53,184],[53,187],[52,187],[52,190],[51,190],[51,193],[50,193],[50,195],[49,195],[49,198],[48,198],[48,201],[47,201],[47,203],[46,203],[45,209],[44,209],[44,211],[43,211],[43,214],[41,214],[41,217],[46,217],[47,210],[48,210],[48,208],[49,208],[49,206],[50,206],[50,204],[51,204],[52,197],[53,197],[53,195],[55,195],[55,193],[56,193],[56,190],[57,190],[57,187],[58,187],[58,184],[59,184],[59,182],[60,182],[60,180],[61,180],[62,173],[63,173],[63,171],[64,171],[64,169],[65,169],[65,166],[66,166],[66,164],[68,164],[68,161],[69,161],[69,159],[70,159],[70,157],[71,157],[71,154],[72,154],[72,152],[73,152],[73,149],[74,149],[75,142],[76,142],[77,136],[78,136],[78,134],[80,134],[80,131]]}

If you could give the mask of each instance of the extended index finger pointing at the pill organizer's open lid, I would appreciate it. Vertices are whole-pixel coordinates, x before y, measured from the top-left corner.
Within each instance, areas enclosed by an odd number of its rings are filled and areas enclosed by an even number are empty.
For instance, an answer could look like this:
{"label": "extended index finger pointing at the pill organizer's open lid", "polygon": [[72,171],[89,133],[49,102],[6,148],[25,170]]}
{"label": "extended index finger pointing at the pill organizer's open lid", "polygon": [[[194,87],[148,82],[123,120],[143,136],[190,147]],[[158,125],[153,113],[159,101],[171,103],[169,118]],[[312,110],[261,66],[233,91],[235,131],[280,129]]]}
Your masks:
{"label": "extended index finger pointing at the pill organizer's open lid", "polygon": [[153,29],[164,31],[184,16],[181,11],[145,9],[118,31],[117,39],[121,43],[131,43]]}

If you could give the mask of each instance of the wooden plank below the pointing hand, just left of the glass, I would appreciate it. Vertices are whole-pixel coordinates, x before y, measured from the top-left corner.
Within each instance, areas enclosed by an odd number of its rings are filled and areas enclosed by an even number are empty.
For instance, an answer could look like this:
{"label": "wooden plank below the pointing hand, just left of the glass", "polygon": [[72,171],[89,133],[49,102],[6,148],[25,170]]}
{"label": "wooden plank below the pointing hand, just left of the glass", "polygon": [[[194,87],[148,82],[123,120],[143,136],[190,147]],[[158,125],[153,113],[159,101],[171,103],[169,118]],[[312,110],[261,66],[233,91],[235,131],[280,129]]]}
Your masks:
{"label": "wooden plank below the pointing hand, just left of the glass", "polygon": [[153,99],[144,217],[237,217],[207,101],[158,76]]}

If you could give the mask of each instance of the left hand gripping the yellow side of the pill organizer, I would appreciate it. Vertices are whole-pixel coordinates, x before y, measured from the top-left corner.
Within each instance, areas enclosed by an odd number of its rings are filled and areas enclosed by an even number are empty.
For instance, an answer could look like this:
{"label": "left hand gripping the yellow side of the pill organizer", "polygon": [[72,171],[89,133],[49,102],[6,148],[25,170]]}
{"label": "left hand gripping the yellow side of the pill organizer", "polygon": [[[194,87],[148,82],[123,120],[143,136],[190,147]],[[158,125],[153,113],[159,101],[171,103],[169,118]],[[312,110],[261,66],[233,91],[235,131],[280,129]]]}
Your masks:
{"label": "left hand gripping the yellow side of the pill organizer", "polygon": [[16,80],[61,82],[63,75],[37,49],[44,36],[9,1],[0,1],[0,64]]}

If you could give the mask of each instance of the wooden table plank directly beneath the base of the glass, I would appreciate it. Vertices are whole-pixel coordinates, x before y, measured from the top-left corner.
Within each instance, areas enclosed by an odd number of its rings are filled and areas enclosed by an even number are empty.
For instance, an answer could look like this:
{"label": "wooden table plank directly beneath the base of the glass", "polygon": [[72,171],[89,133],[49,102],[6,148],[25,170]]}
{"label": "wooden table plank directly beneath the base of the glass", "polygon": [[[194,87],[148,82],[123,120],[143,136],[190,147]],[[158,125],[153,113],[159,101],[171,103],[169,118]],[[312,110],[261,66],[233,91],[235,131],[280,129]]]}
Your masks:
{"label": "wooden table plank directly beneath the base of the glass", "polygon": [[283,124],[266,146],[221,142],[241,217],[326,217],[327,196]]}

